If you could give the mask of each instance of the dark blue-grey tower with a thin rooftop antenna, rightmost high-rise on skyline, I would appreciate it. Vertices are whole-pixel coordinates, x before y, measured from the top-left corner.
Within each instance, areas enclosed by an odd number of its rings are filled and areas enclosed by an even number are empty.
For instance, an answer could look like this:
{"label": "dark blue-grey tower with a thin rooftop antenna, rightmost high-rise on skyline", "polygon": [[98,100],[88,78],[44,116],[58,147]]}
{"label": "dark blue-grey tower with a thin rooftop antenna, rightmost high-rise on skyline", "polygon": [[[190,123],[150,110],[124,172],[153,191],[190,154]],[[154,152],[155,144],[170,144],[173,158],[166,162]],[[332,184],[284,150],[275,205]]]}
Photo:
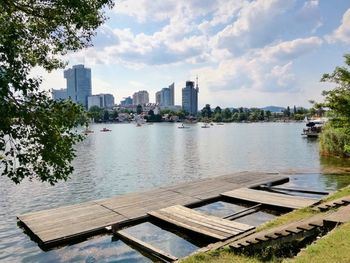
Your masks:
{"label": "dark blue-grey tower with a thin rooftop antenna, rightmost high-rise on skyline", "polygon": [[190,115],[198,112],[198,92],[198,78],[196,87],[194,81],[186,81],[186,87],[182,89],[182,108]]}

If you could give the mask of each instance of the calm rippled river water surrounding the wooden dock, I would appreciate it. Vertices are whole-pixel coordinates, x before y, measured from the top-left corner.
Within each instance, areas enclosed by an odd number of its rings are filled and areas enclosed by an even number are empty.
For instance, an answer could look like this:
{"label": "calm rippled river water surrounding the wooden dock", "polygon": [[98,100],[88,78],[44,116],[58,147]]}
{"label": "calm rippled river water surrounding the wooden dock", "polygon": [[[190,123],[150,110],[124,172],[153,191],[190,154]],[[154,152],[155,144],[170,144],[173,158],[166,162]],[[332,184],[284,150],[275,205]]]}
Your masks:
{"label": "calm rippled river water surrounding the wooden dock", "polygon": [[[333,165],[318,154],[318,141],[303,138],[303,123],[94,124],[94,133],[76,146],[74,173],[55,186],[25,180],[14,185],[0,178],[1,262],[149,262],[110,235],[42,251],[17,226],[16,215],[143,191],[199,178],[239,171],[297,171],[291,183],[319,190],[335,190],[350,183],[349,176],[321,174]],[[100,132],[103,127],[110,132]],[[306,174],[302,174],[306,171]],[[196,246],[156,226],[144,223],[130,233],[162,244],[178,256]]]}

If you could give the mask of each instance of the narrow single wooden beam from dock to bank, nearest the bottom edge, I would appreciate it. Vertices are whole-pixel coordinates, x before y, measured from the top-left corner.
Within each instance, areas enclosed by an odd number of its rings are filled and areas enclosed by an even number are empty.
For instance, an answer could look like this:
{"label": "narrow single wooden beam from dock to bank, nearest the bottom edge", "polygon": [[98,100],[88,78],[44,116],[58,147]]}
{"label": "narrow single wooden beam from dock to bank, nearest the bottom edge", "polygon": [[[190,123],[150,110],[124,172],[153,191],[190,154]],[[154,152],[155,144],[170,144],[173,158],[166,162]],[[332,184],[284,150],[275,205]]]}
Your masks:
{"label": "narrow single wooden beam from dock to bank, nearest the bottom edge", "polygon": [[156,247],[152,246],[151,244],[147,244],[146,242],[143,242],[142,240],[139,240],[139,239],[129,235],[125,231],[120,230],[120,231],[115,232],[114,234],[119,236],[122,240],[126,241],[127,243],[131,243],[131,245],[139,247],[142,250],[150,253],[151,255],[156,255],[157,258],[163,259],[165,261],[170,261],[170,262],[178,260],[177,257],[175,257],[167,252],[164,252],[163,250],[156,248]]}

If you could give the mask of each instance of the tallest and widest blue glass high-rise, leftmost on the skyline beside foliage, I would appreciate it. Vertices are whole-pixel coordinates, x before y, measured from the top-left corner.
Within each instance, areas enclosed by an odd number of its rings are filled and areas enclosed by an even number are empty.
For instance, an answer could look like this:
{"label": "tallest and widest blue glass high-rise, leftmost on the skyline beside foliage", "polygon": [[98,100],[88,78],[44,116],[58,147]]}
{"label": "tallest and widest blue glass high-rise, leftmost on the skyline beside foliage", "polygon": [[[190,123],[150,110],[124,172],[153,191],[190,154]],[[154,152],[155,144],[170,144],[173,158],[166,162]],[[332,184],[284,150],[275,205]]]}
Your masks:
{"label": "tallest and widest blue glass high-rise, leftmost on the skyline beside foliage", "polygon": [[91,69],[84,65],[75,65],[64,71],[67,80],[67,95],[72,101],[88,106],[88,96],[91,96]]}

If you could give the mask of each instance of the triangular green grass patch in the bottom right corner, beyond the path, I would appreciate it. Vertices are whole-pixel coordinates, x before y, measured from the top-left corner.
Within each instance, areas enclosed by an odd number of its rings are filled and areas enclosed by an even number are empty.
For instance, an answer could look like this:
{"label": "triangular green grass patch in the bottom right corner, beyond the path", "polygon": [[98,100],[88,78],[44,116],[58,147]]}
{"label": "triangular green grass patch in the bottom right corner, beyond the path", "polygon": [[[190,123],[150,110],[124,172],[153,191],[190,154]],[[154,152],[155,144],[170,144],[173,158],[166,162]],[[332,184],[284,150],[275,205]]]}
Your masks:
{"label": "triangular green grass patch in the bottom right corner, beyond the path", "polygon": [[337,227],[308,246],[293,259],[284,262],[350,262],[350,223]]}

